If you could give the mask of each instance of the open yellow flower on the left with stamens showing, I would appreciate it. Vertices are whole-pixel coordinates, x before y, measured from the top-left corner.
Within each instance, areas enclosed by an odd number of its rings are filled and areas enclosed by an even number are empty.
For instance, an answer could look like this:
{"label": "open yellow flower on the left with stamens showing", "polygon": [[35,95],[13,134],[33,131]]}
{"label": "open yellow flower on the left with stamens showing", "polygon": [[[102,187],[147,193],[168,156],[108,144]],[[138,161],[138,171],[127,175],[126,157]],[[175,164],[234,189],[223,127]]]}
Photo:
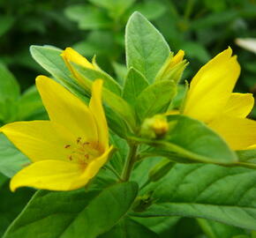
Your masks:
{"label": "open yellow flower on the left with stamens showing", "polygon": [[102,108],[102,80],[94,81],[88,107],[50,78],[39,76],[36,86],[49,121],[16,122],[0,129],[33,162],[13,176],[11,190],[79,189],[98,173],[112,149]]}

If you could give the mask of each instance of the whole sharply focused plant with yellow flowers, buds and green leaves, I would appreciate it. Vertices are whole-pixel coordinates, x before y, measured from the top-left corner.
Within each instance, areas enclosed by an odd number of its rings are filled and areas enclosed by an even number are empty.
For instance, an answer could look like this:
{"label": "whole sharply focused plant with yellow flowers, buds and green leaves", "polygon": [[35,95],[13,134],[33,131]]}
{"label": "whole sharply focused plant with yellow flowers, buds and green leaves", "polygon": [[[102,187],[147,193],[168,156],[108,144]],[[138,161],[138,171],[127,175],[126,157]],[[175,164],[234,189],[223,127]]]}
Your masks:
{"label": "whole sharply focused plant with yellow flowers, buds and green leaves", "polygon": [[174,55],[139,12],[125,47],[121,84],[96,57],[31,47],[51,76],[36,78],[49,120],[1,128],[29,159],[10,165],[11,190],[37,190],[4,237],[255,237],[256,123],[246,118],[254,100],[232,93],[232,49],[181,96],[184,51]]}

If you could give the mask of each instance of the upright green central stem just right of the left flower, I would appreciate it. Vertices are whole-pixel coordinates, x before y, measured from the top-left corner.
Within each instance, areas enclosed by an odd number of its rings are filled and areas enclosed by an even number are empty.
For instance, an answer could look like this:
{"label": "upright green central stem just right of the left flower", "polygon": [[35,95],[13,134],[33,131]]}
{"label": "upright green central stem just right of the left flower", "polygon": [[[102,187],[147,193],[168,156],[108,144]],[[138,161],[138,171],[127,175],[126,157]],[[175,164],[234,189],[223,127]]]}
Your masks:
{"label": "upright green central stem just right of the left flower", "polygon": [[137,157],[137,149],[138,149],[138,145],[131,143],[130,145],[130,150],[129,153],[127,155],[127,158],[125,160],[125,164],[124,164],[124,170],[122,173],[122,180],[123,181],[128,181],[130,178],[130,175],[132,173],[132,167],[134,165],[134,163],[136,162],[136,157]]}

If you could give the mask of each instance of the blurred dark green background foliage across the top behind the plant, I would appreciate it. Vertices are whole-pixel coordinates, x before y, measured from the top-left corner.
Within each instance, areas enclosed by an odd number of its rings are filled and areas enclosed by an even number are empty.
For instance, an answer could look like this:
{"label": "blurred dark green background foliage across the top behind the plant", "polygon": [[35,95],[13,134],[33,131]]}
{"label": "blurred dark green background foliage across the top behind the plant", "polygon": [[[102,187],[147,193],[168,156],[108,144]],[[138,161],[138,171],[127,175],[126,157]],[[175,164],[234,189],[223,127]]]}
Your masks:
{"label": "blurred dark green background foliage across the top behind the plant", "polygon": [[[19,81],[21,92],[45,73],[30,56],[33,44],[72,46],[89,59],[96,55],[102,69],[121,77],[124,27],[133,11],[144,14],[175,53],[184,49],[190,62],[184,79],[230,46],[242,65],[236,91],[256,92],[256,55],[235,44],[237,38],[256,38],[255,0],[0,0],[0,63]],[[20,118],[2,117],[2,123]]]}

